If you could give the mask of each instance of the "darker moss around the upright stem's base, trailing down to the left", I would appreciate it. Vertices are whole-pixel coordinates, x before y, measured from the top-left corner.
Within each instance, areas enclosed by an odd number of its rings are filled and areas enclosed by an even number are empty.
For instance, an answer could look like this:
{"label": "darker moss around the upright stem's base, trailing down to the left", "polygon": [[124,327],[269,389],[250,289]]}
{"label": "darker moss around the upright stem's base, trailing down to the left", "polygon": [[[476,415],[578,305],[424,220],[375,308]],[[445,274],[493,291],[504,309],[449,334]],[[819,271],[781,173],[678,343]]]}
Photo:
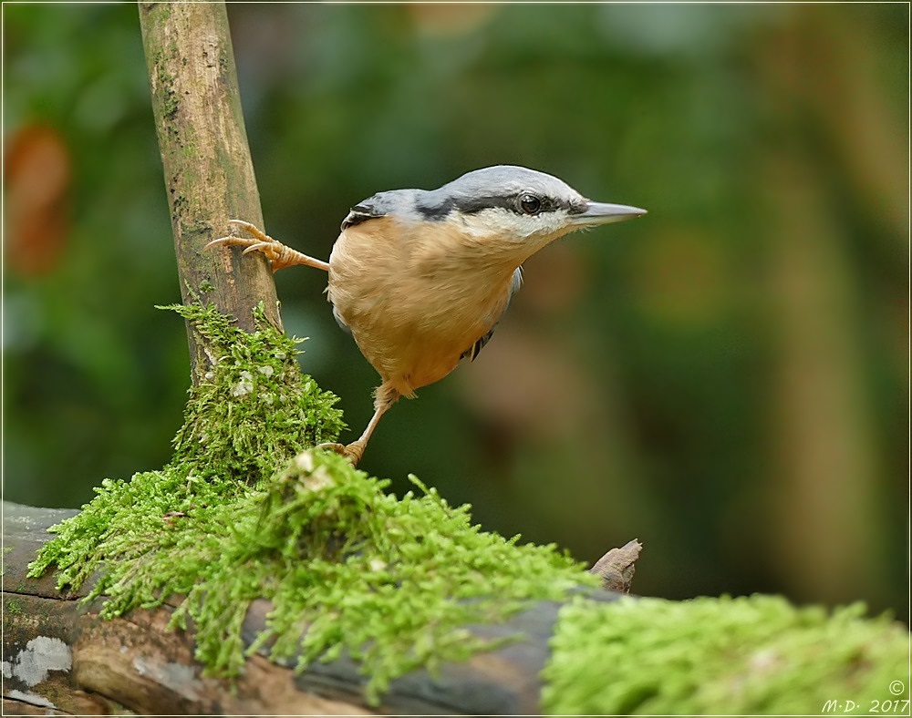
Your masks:
{"label": "darker moss around the upright stem's base, trailing down to the left", "polygon": [[53,528],[57,537],[29,571],[40,576],[56,564],[58,585],[78,589],[104,568],[90,596],[109,595],[106,615],[161,602],[150,594],[157,581],[162,590],[189,590],[189,576],[182,588],[156,578],[152,554],[175,550],[187,539],[186,528],[214,520],[215,505],[248,497],[303,447],[333,440],[344,426],[337,397],[301,374],[300,340],[269,324],[262,306],[254,310],[254,333],[238,329],[212,304],[164,308],[202,335],[212,364],[190,389],[171,463],[130,482],[104,479],[78,516]]}

